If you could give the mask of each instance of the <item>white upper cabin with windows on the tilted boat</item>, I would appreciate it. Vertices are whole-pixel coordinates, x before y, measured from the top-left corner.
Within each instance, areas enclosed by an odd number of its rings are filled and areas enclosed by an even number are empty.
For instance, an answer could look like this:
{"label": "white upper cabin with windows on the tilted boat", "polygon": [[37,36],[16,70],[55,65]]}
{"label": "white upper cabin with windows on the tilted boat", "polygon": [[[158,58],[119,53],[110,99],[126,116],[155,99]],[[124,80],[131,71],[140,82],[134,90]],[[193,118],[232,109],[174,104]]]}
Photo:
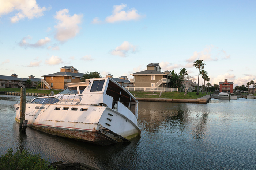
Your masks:
{"label": "white upper cabin with windows on the tilted boat", "polygon": [[[131,111],[138,117],[138,101],[114,80],[105,78],[86,79],[86,82],[69,83],[59,94],[33,99],[34,104],[62,104],[107,106],[117,112]],[[57,108],[57,107],[56,107]],[[59,107],[58,107],[59,108]]]}

